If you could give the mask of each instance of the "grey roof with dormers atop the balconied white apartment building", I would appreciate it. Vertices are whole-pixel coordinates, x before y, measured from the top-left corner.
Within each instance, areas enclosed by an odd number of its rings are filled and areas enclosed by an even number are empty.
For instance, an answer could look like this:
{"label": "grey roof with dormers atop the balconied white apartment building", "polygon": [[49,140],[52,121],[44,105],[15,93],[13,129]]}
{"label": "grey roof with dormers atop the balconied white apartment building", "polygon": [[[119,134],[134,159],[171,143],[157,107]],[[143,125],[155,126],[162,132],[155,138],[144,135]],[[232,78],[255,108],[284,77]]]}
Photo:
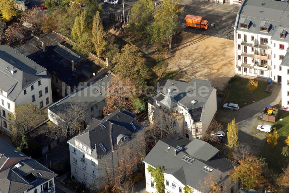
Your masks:
{"label": "grey roof with dormers atop the balconied white apartment building", "polygon": [[[251,24],[249,29],[240,28],[240,23],[243,23],[245,18],[251,20],[252,24],[255,23],[255,27]],[[260,27],[267,27],[269,31],[262,32]],[[288,3],[275,0],[244,0],[237,14],[235,29],[268,35],[272,40],[289,42],[288,34],[285,39],[280,39],[280,30],[289,31]]]}

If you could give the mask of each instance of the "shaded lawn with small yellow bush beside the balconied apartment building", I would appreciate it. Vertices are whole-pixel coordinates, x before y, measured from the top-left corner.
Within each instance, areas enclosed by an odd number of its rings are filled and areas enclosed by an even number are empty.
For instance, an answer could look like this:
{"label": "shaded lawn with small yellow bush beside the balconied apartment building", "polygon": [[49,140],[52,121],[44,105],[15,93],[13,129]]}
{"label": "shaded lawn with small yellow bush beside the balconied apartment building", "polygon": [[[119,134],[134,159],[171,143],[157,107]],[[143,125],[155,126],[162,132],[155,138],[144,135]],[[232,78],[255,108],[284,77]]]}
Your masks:
{"label": "shaded lawn with small yellow bush beside the balconied apartment building", "polygon": [[248,81],[249,79],[242,78],[238,75],[234,76],[229,82],[231,87],[224,98],[223,104],[236,103],[240,107],[244,107],[253,103],[253,101],[260,101],[271,95],[271,93],[265,92],[267,82],[258,81],[258,88],[254,91],[249,91],[246,86]]}

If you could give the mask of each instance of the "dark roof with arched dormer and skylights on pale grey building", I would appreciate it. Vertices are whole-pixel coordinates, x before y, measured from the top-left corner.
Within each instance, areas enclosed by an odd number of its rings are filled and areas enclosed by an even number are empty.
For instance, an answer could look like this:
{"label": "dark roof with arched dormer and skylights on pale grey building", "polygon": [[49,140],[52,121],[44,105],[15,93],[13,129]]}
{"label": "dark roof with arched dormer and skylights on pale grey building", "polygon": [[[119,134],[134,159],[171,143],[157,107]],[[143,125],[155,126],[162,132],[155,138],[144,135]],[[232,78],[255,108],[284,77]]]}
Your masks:
{"label": "dark roof with arched dormer and skylights on pale grey building", "polygon": [[[135,116],[130,116],[130,114],[132,113],[123,109],[112,112],[102,120],[92,118],[88,123],[87,128],[68,142],[75,144],[76,140],[85,144],[92,149],[92,157],[95,159],[101,159],[103,156],[114,150],[114,146],[118,145],[118,136],[124,134],[129,136],[129,138],[132,138],[133,133],[144,128],[142,124],[135,120]],[[131,125],[131,122],[134,126]],[[105,129],[103,129],[101,125],[104,125]],[[104,152],[99,145],[101,143],[107,150],[106,152]]]}

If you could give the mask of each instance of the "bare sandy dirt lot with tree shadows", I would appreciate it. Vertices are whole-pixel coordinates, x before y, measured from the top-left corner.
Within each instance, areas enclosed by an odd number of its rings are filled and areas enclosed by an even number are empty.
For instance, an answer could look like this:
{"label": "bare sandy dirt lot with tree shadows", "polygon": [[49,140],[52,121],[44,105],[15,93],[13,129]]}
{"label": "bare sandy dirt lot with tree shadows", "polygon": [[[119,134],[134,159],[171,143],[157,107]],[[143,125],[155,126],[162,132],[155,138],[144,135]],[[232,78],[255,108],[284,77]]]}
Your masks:
{"label": "bare sandy dirt lot with tree shadows", "polygon": [[185,33],[180,46],[166,61],[167,70],[178,70],[183,80],[211,80],[223,90],[234,75],[234,41],[201,34]]}

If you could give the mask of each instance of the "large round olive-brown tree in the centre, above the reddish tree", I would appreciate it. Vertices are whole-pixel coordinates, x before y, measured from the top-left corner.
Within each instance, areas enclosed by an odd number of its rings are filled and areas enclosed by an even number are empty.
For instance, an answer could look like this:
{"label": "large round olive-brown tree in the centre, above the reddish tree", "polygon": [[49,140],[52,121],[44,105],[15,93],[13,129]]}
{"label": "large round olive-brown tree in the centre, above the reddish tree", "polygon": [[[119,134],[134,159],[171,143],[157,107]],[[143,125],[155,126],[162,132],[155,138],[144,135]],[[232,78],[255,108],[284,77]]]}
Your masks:
{"label": "large round olive-brown tree in the centre, above the reddish tree", "polygon": [[150,79],[150,70],[146,66],[145,59],[138,47],[134,44],[126,44],[114,57],[114,72],[122,78],[130,78],[137,87],[146,86],[147,80]]}

